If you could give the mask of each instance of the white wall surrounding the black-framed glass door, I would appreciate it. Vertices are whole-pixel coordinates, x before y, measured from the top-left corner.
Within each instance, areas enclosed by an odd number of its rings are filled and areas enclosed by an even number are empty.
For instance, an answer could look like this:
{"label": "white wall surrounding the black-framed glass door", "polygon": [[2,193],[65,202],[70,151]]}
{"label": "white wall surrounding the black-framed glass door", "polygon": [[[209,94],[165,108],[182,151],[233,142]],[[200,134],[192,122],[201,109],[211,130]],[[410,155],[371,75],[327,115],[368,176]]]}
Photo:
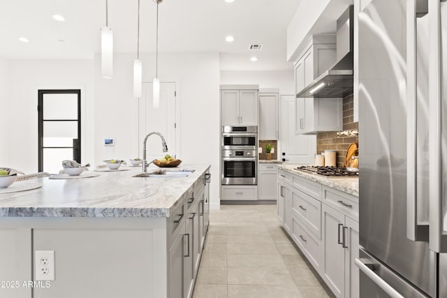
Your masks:
{"label": "white wall surrounding the black-framed glass door", "polygon": [[[1,82],[0,75],[0,87]],[[68,88],[82,90],[82,162],[91,163],[94,156],[93,60],[8,61],[8,113],[11,116],[7,139],[10,154],[6,163],[9,167],[27,173],[37,172],[38,89]]]}

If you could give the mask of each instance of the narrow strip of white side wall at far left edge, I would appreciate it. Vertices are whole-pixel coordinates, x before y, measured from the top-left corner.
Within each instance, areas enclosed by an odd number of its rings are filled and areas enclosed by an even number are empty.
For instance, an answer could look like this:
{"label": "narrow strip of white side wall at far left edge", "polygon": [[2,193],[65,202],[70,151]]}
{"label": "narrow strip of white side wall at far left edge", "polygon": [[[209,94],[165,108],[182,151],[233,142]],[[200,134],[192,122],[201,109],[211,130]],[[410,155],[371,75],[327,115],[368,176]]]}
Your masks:
{"label": "narrow strip of white side wall at far left edge", "polygon": [[0,58],[0,167],[10,164],[10,109],[8,107],[8,61]]}

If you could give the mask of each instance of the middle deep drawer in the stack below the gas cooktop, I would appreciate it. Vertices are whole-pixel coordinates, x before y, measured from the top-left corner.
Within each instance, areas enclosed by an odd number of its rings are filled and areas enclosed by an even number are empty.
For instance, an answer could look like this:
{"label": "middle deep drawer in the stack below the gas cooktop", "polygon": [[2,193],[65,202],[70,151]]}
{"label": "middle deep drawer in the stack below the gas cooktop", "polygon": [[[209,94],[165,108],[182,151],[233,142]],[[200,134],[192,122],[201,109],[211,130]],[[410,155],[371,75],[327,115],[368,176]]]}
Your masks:
{"label": "middle deep drawer in the stack below the gas cooktop", "polygon": [[292,210],[318,239],[321,239],[321,202],[302,191],[293,191]]}

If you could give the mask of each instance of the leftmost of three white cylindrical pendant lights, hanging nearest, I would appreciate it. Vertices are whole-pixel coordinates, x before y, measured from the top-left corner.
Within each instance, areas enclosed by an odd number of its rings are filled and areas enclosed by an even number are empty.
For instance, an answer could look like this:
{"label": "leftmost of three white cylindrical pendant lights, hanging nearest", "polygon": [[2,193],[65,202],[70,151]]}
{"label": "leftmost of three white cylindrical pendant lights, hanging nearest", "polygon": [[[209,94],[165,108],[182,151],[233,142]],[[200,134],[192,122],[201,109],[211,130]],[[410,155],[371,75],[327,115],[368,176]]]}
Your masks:
{"label": "leftmost of three white cylindrical pendant lights, hanging nearest", "polygon": [[113,33],[109,27],[108,0],[105,0],[105,27],[101,28],[101,74],[106,79],[113,75]]}

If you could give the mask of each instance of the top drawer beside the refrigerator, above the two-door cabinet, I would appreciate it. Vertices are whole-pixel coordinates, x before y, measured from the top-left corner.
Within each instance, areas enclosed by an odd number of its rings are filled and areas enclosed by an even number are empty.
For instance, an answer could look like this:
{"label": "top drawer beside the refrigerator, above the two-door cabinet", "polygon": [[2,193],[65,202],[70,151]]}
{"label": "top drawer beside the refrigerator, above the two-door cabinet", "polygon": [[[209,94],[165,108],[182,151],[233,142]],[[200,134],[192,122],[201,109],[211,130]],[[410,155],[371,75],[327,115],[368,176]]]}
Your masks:
{"label": "top drawer beside the refrigerator, above the two-door cabinet", "polygon": [[323,202],[358,221],[358,197],[323,186]]}

